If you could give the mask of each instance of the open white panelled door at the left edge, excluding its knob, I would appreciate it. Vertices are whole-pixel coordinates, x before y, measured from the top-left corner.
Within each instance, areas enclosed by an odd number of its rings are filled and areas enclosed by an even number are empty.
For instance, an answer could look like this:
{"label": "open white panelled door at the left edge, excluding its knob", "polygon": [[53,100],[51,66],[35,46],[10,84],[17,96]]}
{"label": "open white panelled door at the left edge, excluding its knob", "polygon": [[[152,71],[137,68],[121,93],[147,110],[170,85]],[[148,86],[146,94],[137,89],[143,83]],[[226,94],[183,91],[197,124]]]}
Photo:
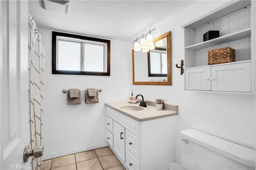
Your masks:
{"label": "open white panelled door at the left edge, excluding its knob", "polygon": [[29,145],[28,1],[0,1],[0,94],[0,169],[30,169],[31,161],[23,161]]}

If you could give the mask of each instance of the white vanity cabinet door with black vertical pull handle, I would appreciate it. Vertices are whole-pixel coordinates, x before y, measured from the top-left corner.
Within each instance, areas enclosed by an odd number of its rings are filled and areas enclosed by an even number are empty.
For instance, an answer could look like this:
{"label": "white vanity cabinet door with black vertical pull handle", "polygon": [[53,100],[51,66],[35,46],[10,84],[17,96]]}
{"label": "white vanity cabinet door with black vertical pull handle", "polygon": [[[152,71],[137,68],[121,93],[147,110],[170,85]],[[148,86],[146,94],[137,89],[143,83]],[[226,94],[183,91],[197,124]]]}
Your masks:
{"label": "white vanity cabinet door with black vertical pull handle", "polygon": [[114,151],[125,162],[125,129],[122,125],[113,121]]}

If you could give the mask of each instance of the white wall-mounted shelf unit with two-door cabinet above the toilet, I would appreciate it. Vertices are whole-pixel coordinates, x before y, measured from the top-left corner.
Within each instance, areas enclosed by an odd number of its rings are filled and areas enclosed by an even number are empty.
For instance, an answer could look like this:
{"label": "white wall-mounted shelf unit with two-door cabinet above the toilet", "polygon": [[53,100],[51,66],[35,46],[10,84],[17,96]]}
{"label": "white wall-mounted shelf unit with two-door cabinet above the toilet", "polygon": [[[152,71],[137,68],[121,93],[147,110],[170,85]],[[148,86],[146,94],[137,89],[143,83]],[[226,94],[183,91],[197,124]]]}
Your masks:
{"label": "white wall-mounted shelf unit with two-door cabinet above the toilet", "polygon": [[[254,6],[253,6],[254,5]],[[232,1],[184,27],[185,90],[255,94],[255,18],[251,1]],[[207,31],[220,37],[203,41]],[[231,47],[235,62],[208,65],[208,50]]]}

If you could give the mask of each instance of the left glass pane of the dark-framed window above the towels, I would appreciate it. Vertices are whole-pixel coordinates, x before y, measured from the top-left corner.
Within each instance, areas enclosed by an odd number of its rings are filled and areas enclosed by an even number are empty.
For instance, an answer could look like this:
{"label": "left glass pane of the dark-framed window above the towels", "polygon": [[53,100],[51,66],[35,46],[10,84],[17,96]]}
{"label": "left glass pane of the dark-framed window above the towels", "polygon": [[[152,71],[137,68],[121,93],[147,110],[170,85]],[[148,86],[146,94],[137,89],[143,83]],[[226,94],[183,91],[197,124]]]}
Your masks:
{"label": "left glass pane of the dark-framed window above the towels", "polygon": [[80,43],[58,41],[58,70],[80,71]]}

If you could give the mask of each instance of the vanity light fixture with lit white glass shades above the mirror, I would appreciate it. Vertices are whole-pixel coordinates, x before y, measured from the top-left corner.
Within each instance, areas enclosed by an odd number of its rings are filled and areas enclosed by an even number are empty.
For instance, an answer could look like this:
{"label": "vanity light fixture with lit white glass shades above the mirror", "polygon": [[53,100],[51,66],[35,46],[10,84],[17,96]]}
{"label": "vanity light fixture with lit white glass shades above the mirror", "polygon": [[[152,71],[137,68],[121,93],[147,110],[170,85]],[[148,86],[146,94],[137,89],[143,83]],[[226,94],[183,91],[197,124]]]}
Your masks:
{"label": "vanity light fixture with lit white glass shades above the mirror", "polygon": [[[134,51],[140,51],[140,49],[142,49],[142,52],[148,52],[151,49],[155,49],[155,45],[154,45],[154,41],[153,41],[153,37],[151,35],[151,32],[154,31],[156,28],[154,29],[149,29],[149,32],[147,32],[146,34],[142,33],[142,36],[137,38],[136,40],[133,41],[135,42],[134,44]],[[145,39],[144,36],[147,35],[147,38]],[[140,44],[138,43],[138,39],[140,39]],[[158,46],[160,47],[160,46]]]}

